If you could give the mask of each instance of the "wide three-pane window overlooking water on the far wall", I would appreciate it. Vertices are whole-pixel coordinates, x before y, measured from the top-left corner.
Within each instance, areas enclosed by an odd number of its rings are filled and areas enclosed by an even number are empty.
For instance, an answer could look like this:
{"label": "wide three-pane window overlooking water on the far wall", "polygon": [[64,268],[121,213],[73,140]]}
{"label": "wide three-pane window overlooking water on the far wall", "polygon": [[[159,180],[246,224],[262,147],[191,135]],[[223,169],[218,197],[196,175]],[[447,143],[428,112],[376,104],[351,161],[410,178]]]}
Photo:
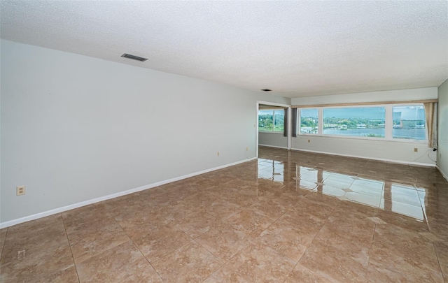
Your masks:
{"label": "wide three-pane window overlooking water on the far wall", "polygon": [[298,116],[302,135],[426,140],[422,103],[302,108]]}

